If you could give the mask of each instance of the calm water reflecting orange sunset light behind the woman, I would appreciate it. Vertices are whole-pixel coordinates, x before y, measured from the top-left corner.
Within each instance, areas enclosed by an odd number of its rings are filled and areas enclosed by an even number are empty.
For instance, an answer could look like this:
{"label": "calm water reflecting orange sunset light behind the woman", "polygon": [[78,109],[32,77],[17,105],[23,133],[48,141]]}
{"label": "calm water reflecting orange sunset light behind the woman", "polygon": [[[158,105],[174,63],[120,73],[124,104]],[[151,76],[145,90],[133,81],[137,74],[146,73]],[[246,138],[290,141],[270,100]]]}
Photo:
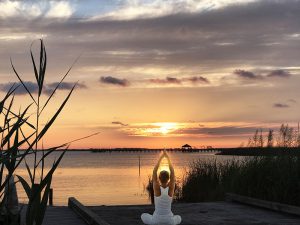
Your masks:
{"label": "calm water reflecting orange sunset light behind the woman", "polygon": [[[55,152],[47,158],[46,170],[59,154]],[[232,158],[215,156],[213,153],[174,152],[169,155],[178,180],[183,177],[193,160]],[[159,154],[155,152],[67,152],[53,177],[53,202],[55,205],[67,205],[69,197],[76,197],[85,205],[148,204],[145,185],[158,157]],[[29,164],[32,160],[32,156],[27,158]],[[28,180],[24,165],[18,168],[17,174]],[[17,184],[17,189],[20,202],[26,202],[27,198],[20,184]]]}

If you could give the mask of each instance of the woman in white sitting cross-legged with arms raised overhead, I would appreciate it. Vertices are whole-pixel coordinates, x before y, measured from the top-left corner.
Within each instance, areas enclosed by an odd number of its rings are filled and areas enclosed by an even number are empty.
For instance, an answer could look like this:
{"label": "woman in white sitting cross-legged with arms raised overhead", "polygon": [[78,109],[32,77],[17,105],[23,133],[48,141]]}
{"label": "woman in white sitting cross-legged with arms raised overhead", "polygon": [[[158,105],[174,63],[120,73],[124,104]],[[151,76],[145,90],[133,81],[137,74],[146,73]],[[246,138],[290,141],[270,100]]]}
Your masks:
{"label": "woman in white sitting cross-legged with arms raised overhead", "polygon": [[[169,164],[170,174],[163,170],[157,178],[157,170],[162,161],[166,157]],[[154,190],[154,204],[155,211],[153,215],[149,213],[143,213],[141,219],[144,224],[164,224],[164,225],[176,225],[181,223],[180,216],[174,216],[171,211],[171,203],[175,190],[175,173],[171,164],[171,160],[166,152],[164,152],[159,158],[156,166],[153,169],[153,190]],[[170,181],[169,181],[170,180]]]}

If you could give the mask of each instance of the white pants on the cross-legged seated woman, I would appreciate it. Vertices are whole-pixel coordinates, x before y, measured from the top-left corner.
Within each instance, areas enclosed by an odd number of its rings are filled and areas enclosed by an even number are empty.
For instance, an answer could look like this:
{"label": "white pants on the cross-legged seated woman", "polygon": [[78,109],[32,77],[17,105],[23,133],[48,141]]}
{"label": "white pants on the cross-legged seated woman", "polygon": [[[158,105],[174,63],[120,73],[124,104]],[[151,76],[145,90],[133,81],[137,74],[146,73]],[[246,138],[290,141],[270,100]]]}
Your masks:
{"label": "white pants on the cross-legged seated woman", "polygon": [[155,213],[150,215],[149,213],[143,213],[141,219],[144,224],[148,225],[177,225],[181,223],[181,216],[159,216]]}

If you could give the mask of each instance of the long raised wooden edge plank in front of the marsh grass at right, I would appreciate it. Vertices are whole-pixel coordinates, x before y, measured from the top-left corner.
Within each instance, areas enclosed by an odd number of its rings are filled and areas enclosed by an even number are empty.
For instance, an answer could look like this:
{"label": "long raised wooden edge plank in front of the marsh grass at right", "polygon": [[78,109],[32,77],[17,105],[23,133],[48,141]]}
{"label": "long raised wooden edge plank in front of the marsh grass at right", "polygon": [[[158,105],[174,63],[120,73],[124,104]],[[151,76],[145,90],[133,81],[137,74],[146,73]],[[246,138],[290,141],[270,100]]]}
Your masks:
{"label": "long raised wooden edge plank in front of the marsh grass at right", "polygon": [[251,197],[237,195],[233,193],[226,193],[226,200],[300,216],[300,207],[297,206],[251,198]]}

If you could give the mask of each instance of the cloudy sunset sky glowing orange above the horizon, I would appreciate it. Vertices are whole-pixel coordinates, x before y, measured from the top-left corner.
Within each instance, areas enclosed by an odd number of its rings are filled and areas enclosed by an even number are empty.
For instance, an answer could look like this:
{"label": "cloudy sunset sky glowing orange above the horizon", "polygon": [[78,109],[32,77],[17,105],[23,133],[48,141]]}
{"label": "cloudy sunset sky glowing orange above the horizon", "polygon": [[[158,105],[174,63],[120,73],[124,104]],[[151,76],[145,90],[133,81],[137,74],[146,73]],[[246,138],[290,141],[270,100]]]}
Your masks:
{"label": "cloudy sunset sky glowing orange above the horizon", "polygon": [[[71,148],[237,147],[256,129],[296,126],[300,1],[0,1],[0,95],[36,91],[30,46],[48,56],[43,101],[79,57],[43,114]],[[30,102],[17,90],[16,108]],[[19,105],[18,105],[19,104]],[[33,113],[34,114],[34,113]]]}

